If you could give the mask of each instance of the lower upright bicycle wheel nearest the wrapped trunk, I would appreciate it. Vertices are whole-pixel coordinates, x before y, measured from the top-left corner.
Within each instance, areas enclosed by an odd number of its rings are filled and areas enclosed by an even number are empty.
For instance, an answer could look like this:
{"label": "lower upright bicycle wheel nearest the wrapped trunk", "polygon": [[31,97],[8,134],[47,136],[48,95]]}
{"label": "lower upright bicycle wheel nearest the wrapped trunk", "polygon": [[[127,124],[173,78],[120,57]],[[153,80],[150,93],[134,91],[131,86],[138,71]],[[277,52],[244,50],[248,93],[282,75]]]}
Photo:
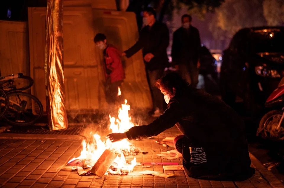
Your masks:
{"label": "lower upright bicycle wheel nearest the wrapped trunk", "polygon": [[43,107],[35,96],[29,93],[13,91],[7,94],[9,108],[5,119],[12,125],[31,125],[41,118]]}

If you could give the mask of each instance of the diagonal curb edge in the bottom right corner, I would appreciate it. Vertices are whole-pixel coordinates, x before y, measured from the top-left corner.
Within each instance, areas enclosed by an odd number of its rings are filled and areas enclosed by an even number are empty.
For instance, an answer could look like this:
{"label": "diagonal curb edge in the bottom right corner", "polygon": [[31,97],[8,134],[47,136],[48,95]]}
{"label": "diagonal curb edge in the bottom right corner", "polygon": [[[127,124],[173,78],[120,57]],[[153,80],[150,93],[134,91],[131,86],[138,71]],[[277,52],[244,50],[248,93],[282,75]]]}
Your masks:
{"label": "diagonal curb edge in the bottom right corner", "polygon": [[273,188],[281,188],[284,185],[277,179],[272,172],[268,171],[262,163],[251,153],[249,153],[249,158],[251,158],[251,163],[255,166],[255,168],[259,171],[259,173],[267,180]]}

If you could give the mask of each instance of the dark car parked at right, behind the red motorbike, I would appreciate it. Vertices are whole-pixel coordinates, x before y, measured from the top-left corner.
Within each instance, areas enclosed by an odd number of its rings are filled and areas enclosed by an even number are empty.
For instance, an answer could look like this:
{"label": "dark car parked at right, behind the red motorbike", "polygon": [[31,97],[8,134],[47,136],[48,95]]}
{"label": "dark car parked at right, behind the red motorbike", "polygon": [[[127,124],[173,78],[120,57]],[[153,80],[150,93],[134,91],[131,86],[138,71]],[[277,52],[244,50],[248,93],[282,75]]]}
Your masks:
{"label": "dark car parked at right, behind the red motorbike", "polygon": [[220,90],[223,101],[243,99],[255,115],[284,77],[284,27],[252,27],[238,31],[223,52]]}

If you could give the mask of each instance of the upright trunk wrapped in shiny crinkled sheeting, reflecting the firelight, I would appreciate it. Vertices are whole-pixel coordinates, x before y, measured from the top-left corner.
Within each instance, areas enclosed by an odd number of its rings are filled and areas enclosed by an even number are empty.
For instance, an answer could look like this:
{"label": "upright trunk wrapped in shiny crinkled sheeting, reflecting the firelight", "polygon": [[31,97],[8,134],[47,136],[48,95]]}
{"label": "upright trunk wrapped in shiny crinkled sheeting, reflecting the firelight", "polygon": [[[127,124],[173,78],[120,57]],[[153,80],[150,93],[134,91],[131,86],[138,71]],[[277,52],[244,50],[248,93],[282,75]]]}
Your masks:
{"label": "upright trunk wrapped in shiny crinkled sheeting, reflecting the firelight", "polygon": [[44,68],[49,129],[67,129],[63,75],[63,0],[47,1]]}

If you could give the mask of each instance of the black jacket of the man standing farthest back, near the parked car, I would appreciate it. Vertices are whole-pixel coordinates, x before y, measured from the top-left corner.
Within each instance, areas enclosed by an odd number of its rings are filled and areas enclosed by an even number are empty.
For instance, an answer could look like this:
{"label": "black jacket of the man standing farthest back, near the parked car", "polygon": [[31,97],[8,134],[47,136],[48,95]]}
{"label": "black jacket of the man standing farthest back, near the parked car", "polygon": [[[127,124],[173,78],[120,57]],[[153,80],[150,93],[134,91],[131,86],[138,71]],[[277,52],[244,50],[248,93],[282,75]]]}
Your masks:
{"label": "black jacket of the man standing farthest back, near the parked car", "polygon": [[180,27],[173,36],[172,62],[175,64],[188,64],[189,61],[197,63],[200,46],[198,29],[191,25],[189,29]]}

